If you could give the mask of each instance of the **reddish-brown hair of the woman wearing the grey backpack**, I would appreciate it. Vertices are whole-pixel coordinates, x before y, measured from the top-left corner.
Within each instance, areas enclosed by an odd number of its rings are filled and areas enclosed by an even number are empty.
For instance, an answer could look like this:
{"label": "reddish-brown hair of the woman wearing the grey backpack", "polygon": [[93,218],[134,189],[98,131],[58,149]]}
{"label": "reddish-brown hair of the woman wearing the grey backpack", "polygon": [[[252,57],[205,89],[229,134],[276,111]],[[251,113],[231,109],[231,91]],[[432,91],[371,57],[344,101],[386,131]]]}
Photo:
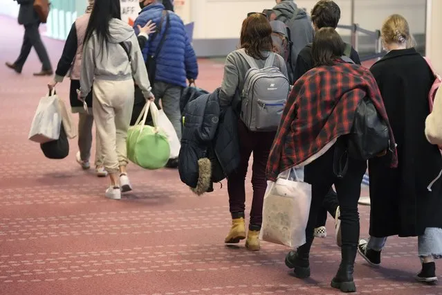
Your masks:
{"label": "reddish-brown hair of the woman wearing the grey backpack", "polygon": [[262,51],[273,51],[272,27],[261,13],[244,19],[240,37],[241,48],[257,60],[265,60]]}

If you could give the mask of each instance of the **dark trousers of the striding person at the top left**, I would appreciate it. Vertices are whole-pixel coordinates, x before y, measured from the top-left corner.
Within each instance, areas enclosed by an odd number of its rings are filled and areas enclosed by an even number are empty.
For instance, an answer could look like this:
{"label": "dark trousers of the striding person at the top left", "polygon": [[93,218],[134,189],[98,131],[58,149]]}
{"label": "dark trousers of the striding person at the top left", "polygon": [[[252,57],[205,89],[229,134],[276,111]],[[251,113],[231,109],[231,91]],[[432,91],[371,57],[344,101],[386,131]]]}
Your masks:
{"label": "dark trousers of the striding person at the top left", "polygon": [[17,66],[17,70],[19,71],[23,69],[25,62],[28,59],[30,50],[33,47],[35,49],[35,52],[37,52],[40,62],[42,62],[42,70],[49,71],[50,69],[52,69],[48,52],[44,47],[42,37],[40,37],[40,33],[38,30],[39,25],[40,24],[37,23],[25,26],[25,33],[23,37],[23,44],[21,44],[20,55],[14,63]]}

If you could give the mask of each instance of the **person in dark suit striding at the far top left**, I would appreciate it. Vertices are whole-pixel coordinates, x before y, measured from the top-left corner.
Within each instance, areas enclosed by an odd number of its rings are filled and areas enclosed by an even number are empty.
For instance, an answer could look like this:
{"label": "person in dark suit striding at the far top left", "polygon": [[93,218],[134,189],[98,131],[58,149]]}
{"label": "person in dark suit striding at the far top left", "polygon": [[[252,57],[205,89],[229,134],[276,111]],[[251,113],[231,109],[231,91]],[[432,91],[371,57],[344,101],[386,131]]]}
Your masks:
{"label": "person in dark suit striding at the far top left", "polygon": [[[40,62],[42,62],[42,70],[38,73],[34,73],[35,76],[52,75],[53,70],[50,65],[48,52],[40,37],[39,26],[40,20],[37,12],[34,9],[34,0],[15,0],[20,5],[19,10],[19,24],[25,28],[23,37],[23,44],[21,44],[21,50],[19,57],[14,63],[6,62],[8,68],[13,69],[17,73],[21,73],[23,66],[28,59],[30,50],[34,47]],[[4,29],[4,28],[3,28]]]}

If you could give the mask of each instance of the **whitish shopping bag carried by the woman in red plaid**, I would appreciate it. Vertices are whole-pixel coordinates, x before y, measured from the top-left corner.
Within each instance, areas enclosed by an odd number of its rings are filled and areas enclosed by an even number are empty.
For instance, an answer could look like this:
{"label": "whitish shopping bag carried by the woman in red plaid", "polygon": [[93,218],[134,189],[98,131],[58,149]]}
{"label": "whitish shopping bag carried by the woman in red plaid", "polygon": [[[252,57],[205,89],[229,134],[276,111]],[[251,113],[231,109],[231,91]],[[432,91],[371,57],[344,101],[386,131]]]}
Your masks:
{"label": "whitish shopping bag carried by the woman in red plaid", "polygon": [[268,181],[259,238],[292,249],[305,244],[310,205],[311,185],[298,181],[294,169]]}

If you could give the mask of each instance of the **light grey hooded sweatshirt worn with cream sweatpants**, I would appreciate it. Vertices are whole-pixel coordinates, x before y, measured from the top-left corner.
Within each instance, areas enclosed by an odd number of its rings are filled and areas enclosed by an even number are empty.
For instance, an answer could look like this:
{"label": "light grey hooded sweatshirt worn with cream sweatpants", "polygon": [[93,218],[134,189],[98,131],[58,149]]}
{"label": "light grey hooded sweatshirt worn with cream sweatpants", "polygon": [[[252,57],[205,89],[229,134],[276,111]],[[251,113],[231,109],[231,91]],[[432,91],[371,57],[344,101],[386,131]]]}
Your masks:
{"label": "light grey hooded sweatshirt worn with cream sweatpants", "polygon": [[[84,44],[80,75],[80,96],[86,97],[93,80],[125,81],[135,80],[145,98],[150,95],[150,82],[144,58],[133,28],[120,19],[109,21],[110,38],[107,46],[93,33]],[[125,45],[127,52],[121,46]]]}

